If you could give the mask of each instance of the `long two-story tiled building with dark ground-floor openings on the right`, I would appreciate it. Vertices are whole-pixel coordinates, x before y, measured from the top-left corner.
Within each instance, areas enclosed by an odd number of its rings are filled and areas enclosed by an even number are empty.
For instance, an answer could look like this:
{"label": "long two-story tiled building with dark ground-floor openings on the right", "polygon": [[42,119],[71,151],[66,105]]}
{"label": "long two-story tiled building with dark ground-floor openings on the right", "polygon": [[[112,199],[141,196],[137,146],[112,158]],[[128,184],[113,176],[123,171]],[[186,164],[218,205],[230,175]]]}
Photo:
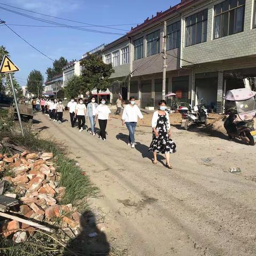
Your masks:
{"label": "long two-story tiled building with dark ground-floor openings on the right", "polygon": [[115,69],[113,95],[157,106],[166,38],[165,93],[192,105],[203,99],[220,112],[227,90],[256,77],[255,28],[254,0],[183,0],[105,47],[103,60]]}

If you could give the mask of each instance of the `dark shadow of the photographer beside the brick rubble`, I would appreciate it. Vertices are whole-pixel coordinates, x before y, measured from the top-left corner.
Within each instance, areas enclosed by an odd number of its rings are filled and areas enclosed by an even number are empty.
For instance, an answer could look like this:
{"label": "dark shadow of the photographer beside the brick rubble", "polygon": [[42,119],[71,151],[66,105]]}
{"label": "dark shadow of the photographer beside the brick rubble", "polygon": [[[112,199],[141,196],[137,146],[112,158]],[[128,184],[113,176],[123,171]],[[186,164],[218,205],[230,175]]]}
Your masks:
{"label": "dark shadow of the photographer beside the brick rubble", "polygon": [[[107,241],[106,234],[100,231],[98,228],[101,223],[96,225],[97,220],[95,219],[95,214],[92,211],[87,211],[82,214],[82,218],[80,221],[80,234],[75,238],[70,239],[62,256],[109,255],[110,244]],[[92,237],[90,237],[90,235]]]}

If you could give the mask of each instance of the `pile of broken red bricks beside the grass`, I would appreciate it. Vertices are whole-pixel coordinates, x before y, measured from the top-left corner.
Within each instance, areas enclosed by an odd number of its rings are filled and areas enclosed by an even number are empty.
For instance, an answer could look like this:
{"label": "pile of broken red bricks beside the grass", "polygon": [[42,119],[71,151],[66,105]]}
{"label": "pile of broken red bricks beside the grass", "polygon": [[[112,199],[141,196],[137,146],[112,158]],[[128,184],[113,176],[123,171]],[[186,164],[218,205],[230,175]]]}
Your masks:
{"label": "pile of broken red bricks beside the grass", "polygon": [[[5,182],[10,182],[13,188],[12,192],[5,193],[5,196],[19,200],[19,205],[13,206],[9,214],[14,213],[15,216],[37,223],[43,222],[44,225],[49,223],[76,234],[81,226],[82,215],[71,204],[58,204],[65,196],[65,188],[58,187],[61,174],[56,171],[54,164],[49,162],[52,158],[52,153],[36,154],[28,151],[12,157],[0,154],[0,172],[9,170],[14,173],[14,178],[2,178]],[[36,229],[17,220],[6,219],[1,224],[2,235],[13,236],[13,241],[18,243],[33,235]],[[18,231],[20,229],[23,231]]]}

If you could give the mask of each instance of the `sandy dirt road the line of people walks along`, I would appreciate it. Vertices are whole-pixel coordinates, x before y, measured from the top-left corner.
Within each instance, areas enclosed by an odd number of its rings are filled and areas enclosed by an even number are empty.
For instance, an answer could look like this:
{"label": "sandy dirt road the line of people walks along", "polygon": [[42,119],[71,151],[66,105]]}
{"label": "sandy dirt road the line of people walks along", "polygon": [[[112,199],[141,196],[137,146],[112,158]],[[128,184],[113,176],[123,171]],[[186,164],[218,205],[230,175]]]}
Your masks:
{"label": "sandy dirt road the line of people walks along", "polygon": [[256,146],[172,127],[178,151],[168,170],[151,162],[150,127],[137,128],[131,149],[117,119],[108,123],[106,142],[69,122],[41,113],[35,119],[35,128],[68,146],[100,188],[103,197],[92,203],[105,214],[107,239],[128,255],[256,255]]}

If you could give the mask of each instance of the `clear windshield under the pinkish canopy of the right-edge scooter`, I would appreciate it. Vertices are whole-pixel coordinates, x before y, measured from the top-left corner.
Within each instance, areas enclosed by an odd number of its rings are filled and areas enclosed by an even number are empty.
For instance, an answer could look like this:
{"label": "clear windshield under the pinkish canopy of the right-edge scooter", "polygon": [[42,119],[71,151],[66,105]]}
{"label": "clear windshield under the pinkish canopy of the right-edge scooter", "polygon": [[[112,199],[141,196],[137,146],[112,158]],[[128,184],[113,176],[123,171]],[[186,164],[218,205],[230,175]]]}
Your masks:
{"label": "clear windshield under the pinkish canopy of the right-edge scooter", "polygon": [[251,99],[236,101],[236,109],[237,114],[242,121],[253,119],[256,114],[255,98],[252,97]]}

